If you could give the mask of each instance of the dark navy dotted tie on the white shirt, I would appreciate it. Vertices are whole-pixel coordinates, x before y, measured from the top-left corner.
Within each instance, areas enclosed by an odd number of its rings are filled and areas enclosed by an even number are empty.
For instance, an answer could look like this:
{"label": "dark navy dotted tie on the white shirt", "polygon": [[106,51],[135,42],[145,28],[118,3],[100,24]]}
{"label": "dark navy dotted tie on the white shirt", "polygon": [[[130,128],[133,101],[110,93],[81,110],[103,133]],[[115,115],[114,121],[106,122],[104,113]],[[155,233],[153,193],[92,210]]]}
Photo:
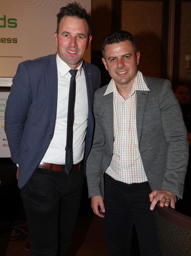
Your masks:
{"label": "dark navy dotted tie on the white shirt", "polygon": [[76,97],[76,73],[78,69],[71,69],[70,89],[68,97],[68,117],[67,117],[67,132],[66,132],[66,173],[69,174],[73,165],[73,119],[74,119],[74,105]]}

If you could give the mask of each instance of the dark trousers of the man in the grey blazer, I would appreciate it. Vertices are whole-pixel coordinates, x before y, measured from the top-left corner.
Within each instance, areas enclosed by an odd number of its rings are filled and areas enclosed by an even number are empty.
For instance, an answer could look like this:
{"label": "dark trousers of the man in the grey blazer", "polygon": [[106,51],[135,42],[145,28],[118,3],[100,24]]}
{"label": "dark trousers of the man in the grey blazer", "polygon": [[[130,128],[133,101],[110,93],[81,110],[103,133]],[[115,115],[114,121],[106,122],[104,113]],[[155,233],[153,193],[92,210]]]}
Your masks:
{"label": "dark trousers of the man in the grey blazer", "polygon": [[125,184],[105,174],[105,228],[110,256],[130,255],[132,228],[138,235],[141,256],[159,256],[155,213],[150,210],[148,182]]}

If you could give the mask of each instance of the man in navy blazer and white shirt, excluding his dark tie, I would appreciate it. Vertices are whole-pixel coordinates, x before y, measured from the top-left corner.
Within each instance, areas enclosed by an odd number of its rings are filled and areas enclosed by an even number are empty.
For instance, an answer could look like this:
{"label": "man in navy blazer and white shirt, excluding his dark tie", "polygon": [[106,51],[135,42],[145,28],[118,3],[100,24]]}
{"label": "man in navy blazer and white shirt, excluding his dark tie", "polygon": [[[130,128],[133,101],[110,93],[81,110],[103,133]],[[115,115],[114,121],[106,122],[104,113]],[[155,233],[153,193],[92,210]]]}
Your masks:
{"label": "man in navy blazer and white shirt, excluding his dark tie", "polygon": [[[5,112],[11,159],[26,211],[31,252],[66,255],[78,216],[84,166],[91,148],[99,69],[82,61],[91,17],[76,2],[57,14],[57,53],[19,64]],[[76,69],[73,166],[65,168],[70,70]]]}

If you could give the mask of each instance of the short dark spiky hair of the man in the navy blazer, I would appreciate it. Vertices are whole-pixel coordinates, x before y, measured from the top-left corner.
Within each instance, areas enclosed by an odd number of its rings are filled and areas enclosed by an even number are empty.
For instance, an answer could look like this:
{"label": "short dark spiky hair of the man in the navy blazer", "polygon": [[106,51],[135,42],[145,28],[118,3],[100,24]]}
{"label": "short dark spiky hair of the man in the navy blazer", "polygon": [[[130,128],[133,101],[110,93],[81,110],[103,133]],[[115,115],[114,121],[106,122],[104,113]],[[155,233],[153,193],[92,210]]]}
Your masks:
{"label": "short dark spiky hair of the man in the navy blazer", "polygon": [[68,5],[60,9],[60,12],[56,16],[57,16],[57,29],[56,29],[57,34],[58,34],[58,28],[59,28],[61,19],[64,16],[69,16],[69,17],[77,17],[78,19],[85,19],[88,24],[88,37],[90,36],[91,16],[87,13],[86,9],[81,6],[80,3],[77,3],[77,2],[68,3]]}

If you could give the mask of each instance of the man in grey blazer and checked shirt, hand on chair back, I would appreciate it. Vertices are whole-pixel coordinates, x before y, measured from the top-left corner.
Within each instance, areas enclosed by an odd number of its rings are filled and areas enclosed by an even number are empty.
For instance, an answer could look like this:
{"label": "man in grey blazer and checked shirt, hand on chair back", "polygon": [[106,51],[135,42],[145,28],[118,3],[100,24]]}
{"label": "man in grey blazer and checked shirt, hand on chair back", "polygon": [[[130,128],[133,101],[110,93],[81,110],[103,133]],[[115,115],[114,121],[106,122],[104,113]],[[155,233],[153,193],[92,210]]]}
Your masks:
{"label": "man in grey blazer and checked shirt, hand on chair back", "polygon": [[130,255],[132,227],[141,255],[160,255],[153,209],[182,198],[188,143],[170,81],[144,77],[127,31],[103,41],[111,81],[94,95],[95,132],[86,175],[93,212],[103,218],[110,256]]}

